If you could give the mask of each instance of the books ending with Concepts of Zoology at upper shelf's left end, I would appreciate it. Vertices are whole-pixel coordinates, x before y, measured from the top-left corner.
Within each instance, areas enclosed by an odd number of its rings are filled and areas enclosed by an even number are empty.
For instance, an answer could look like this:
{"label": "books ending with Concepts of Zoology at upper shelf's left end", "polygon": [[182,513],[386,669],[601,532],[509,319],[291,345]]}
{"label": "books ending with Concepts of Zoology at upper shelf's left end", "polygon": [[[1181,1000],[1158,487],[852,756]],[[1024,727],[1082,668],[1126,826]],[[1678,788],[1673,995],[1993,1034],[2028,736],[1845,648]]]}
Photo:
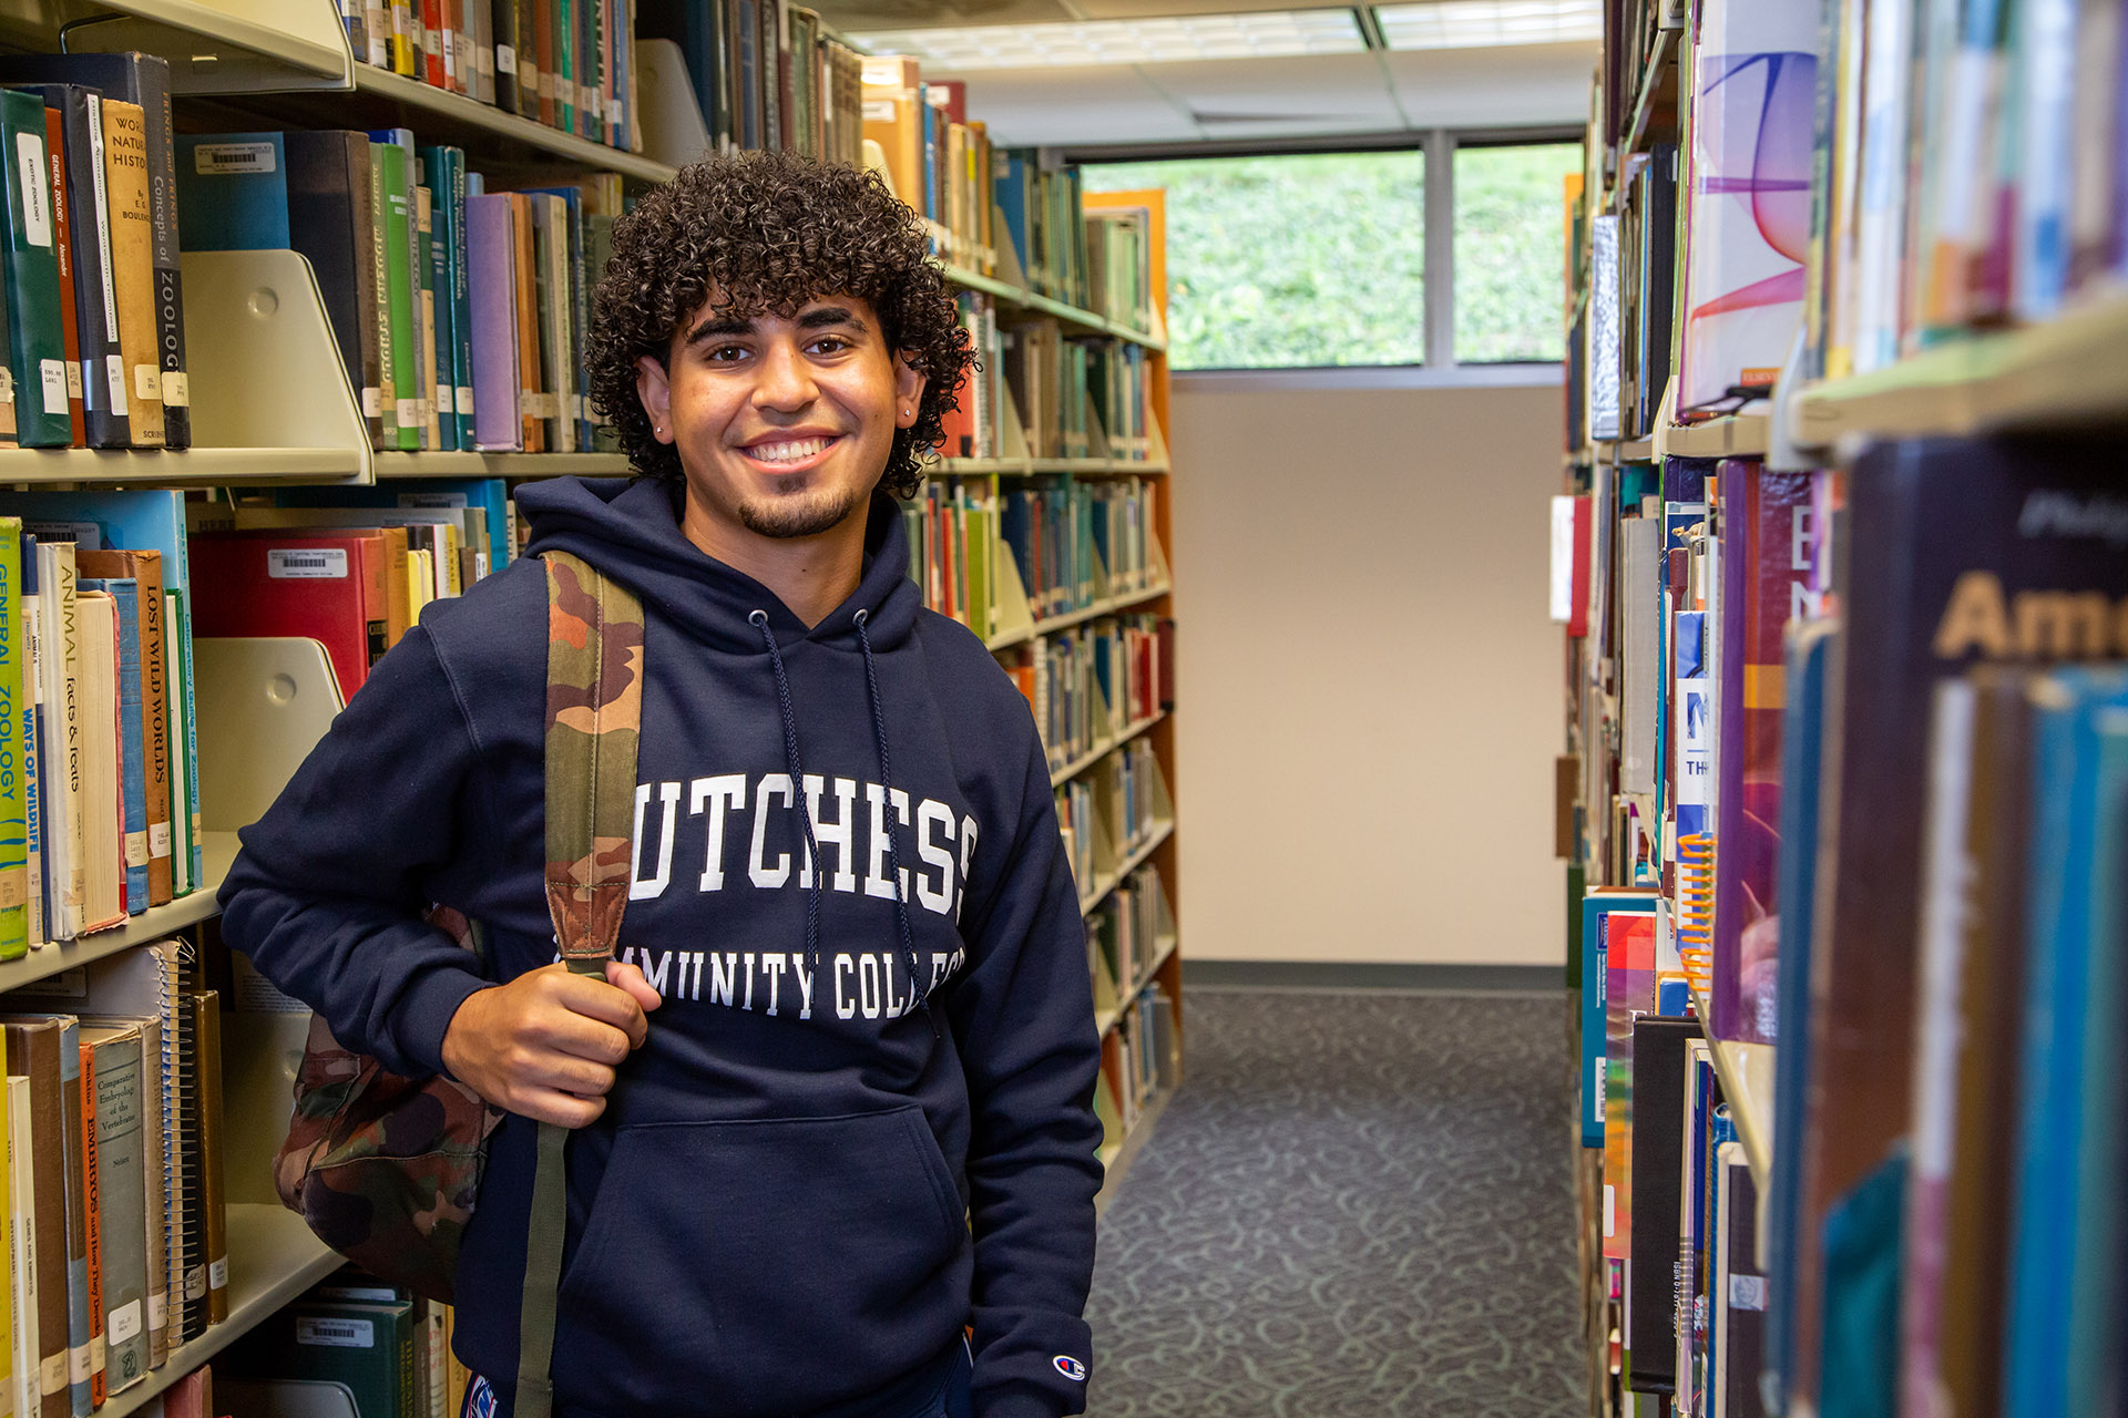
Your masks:
{"label": "books ending with Concepts of Zoology at upper shelf's left end", "polygon": [[0,85],[0,446],[189,446],[168,64],[11,55]]}

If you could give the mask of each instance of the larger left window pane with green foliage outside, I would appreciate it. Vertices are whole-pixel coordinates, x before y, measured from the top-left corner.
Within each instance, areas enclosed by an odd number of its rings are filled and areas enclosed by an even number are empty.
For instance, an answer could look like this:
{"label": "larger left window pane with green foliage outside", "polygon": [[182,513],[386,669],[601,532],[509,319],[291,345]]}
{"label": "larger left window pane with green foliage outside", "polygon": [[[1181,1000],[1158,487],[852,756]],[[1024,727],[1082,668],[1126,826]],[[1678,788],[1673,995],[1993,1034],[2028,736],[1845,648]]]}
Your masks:
{"label": "larger left window pane with green foliage outside", "polygon": [[1083,181],[1168,193],[1173,368],[1424,361],[1426,153],[1085,164]]}

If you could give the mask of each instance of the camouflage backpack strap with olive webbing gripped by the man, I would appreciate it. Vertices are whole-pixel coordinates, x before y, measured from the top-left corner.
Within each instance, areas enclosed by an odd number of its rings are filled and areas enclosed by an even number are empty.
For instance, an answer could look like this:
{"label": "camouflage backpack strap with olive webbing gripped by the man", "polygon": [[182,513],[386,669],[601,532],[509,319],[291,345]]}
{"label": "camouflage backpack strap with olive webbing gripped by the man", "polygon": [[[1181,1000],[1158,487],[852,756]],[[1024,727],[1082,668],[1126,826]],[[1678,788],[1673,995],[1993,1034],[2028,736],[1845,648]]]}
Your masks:
{"label": "camouflage backpack strap with olive webbing gripped by the man", "polygon": [[[547,563],[547,910],[575,974],[604,976],[628,906],[643,719],[643,606],[570,553]],[[541,1122],[526,1293],[519,1418],[549,1418],[555,1293],[568,1227],[568,1129]]]}

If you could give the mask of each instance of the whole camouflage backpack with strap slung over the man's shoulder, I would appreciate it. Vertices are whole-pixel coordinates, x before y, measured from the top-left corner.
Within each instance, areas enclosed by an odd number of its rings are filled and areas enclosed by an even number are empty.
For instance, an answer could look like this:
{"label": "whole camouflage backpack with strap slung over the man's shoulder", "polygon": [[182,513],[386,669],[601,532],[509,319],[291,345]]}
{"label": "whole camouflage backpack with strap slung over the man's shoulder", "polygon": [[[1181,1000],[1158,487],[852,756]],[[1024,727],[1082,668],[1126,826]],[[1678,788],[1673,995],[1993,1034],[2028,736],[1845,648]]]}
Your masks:
{"label": "whole camouflage backpack with strap slung over the man's shoulder", "polygon": [[[643,608],[568,553],[547,553],[547,910],[575,974],[604,976],[628,906]],[[485,955],[481,929],[436,908],[430,923]],[[364,1269],[449,1301],[458,1246],[502,1112],[440,1074],[400,1078],[311,1020],[296,1112],[275,1159],[281,1201]],[[547,1367],[566,1229],[568,1129],[543,1122],[517,1373],[517,1414],[551,1412]]]}

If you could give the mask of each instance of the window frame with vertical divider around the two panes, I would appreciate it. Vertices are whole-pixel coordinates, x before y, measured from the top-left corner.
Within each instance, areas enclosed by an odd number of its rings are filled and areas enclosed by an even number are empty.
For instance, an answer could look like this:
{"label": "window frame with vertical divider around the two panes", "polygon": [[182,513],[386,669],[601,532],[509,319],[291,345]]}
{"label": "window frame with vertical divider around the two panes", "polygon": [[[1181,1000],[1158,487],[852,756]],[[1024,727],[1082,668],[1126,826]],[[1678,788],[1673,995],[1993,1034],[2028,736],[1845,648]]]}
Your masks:
{"label": "window frame with vertical divider around the two panes", "polygon": [[1479,147],[1539,147],[1581,142],[1581,128],[1558,123],[1534,128],[1424,128],[1390,134],[1287,140],[1145,142],[1113,147],[1053,149],[1070,164],[1175,162],[1190,157],[1287,157],[1313,153],[1424,153],[1426,240],[1422,244],[1424,364],[1341,364],[1283,368],[1175,370],[1192,387],[1247,391],[1266,385],[1283,389],[1441,389],[1556,385],[1556,359],[1456,359],[1456,153]]}

